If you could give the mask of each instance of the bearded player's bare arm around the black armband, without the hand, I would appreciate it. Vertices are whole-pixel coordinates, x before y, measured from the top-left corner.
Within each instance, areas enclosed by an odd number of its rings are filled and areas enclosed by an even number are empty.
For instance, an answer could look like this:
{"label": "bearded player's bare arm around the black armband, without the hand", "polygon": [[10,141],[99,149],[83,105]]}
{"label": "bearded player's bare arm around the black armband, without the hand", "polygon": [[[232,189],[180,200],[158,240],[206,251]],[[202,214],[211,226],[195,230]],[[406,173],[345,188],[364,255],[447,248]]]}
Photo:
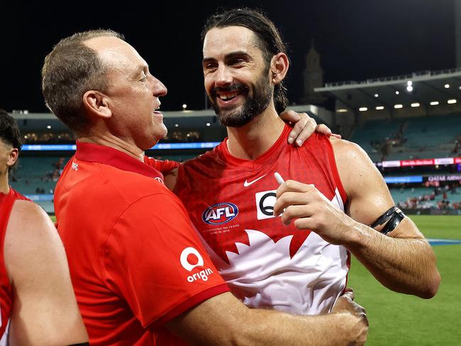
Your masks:
{"label": "bearded player's bare arm around the black armband, without the hand", "polygon": [[[440,284],[431,245],[410,218],[382,235],[371,225],[394,206],[382,174],[367,153],[345,140],[331,140],[340,179],[348,194],[347,213],[355,221],[350,251],[384,286],[394,291],[433,297]],[[380,228],[378,228],[380,230]]]}

